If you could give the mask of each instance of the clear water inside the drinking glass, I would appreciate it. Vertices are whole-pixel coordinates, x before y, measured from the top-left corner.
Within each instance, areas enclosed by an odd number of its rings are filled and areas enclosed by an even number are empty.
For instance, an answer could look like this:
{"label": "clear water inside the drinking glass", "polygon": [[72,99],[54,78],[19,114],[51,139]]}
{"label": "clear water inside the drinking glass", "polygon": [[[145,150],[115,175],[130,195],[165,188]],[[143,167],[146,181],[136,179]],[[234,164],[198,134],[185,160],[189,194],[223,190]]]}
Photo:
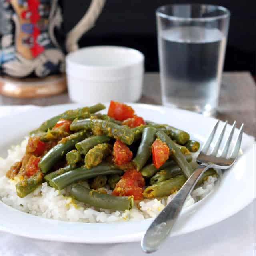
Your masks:
{"label": "clear water inside the drinking glass", "polygon": [[226,36],[217,28],[180,26],[159,33],[163,104],[213,114],[225,48]]}

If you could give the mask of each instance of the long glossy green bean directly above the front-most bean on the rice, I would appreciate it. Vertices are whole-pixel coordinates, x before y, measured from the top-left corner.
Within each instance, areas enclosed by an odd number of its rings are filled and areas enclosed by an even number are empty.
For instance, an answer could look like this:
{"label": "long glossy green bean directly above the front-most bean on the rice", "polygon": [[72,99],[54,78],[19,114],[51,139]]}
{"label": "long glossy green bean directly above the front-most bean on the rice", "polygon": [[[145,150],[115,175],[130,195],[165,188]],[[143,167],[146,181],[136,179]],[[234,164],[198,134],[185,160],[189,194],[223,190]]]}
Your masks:
{"label": "long glossy green bean directly above the front-most bean on the rice", "polygon": [[50,180],[50,186],[62,190],[69,184],[79,180],[87,180],[90,178],[94,178],[99,175],[109,175],[109,174],[122,174],[122,170],[118,170],[118,168],[112,164],[99,164],[91,169],[87,169],[86,167],[76,168],[60,176],[57,176]]}

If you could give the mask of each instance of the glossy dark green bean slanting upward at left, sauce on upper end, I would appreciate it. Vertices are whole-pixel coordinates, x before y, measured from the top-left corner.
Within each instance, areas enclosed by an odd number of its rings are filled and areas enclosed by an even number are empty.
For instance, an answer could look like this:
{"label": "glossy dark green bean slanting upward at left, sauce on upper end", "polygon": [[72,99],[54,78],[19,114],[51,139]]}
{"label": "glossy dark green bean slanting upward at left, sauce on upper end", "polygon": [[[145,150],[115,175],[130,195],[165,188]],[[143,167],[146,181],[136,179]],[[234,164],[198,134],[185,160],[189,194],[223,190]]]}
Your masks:
{"label": "glossy dark green bean slanting upward at left, sauce on upper end", "polygon": [[86,132],[77,132],[70,136],[63,138],[60,142],[51,148],[40,160],[38,166],[43,173],[47,173],[60,159],[72,150],[77,142],[86,138]]}

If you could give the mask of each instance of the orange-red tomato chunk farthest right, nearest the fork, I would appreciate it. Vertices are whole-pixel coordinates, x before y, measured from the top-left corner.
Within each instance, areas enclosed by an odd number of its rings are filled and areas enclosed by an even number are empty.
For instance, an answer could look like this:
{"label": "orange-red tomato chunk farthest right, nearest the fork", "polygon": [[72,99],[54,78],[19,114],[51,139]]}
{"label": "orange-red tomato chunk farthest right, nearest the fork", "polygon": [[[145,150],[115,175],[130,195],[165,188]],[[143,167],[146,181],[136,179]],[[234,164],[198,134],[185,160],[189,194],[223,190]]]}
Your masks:
{"label": "orange-red tomato chunk farthest right, nearest the fork", "polygon": [[169,158],[170,149],[165,142],[156,139],[152,144],[152,158],[156,168],[160,168]]}

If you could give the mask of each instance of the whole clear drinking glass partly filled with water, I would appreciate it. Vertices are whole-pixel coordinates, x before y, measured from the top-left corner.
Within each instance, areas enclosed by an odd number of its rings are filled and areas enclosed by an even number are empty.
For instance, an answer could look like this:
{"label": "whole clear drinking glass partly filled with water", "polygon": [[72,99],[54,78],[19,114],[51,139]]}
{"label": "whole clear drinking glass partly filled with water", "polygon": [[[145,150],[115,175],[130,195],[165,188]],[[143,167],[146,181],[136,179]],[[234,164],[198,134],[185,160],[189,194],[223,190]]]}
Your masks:
{"label": "whole clear drinking glass partly filled with water", "polygon": [[171,4],[156,10],[162,102],[216,112],[230,12],[221,6]]}

